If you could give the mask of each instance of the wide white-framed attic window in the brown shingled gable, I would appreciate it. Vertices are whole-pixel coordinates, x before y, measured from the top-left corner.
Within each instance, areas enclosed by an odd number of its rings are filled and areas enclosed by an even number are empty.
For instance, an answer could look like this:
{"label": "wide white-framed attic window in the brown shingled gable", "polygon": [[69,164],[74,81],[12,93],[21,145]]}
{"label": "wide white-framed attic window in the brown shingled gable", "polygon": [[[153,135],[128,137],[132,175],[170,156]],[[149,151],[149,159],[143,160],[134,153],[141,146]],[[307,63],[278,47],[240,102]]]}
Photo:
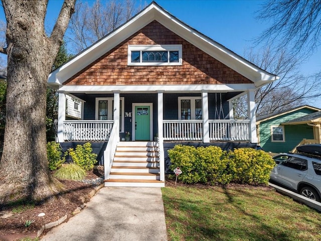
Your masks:
{"label": "wide white-framed attic window in the brown shingled gable", "polygon": [[128,45],[128,65],[182,65],[182,45]]}

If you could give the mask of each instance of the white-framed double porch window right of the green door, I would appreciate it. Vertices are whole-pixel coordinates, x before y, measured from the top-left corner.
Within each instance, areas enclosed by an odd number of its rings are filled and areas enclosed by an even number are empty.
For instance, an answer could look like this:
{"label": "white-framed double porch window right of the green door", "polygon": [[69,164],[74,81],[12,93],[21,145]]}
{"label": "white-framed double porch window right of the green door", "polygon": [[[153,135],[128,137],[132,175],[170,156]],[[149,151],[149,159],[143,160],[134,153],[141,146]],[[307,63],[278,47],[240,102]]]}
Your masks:
{"label": "white-framed double porch window right of the green door", "polygon": [[202,119],[201,97],[179,97],[179,119]]}

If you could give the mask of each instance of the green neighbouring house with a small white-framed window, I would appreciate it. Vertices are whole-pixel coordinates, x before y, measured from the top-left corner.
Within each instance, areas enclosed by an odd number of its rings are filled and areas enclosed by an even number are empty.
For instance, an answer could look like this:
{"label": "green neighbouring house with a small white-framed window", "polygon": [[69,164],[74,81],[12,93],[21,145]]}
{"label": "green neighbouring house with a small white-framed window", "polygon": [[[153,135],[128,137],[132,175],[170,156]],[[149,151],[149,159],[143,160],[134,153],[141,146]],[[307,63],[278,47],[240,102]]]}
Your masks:
{"label": "green neighbouring house with a small white-framed window", "polygon": [[292,151],[293,148],[302,143],[303,139],[312,142],[316,139],[314,138],[314,124],[311,124],[313,121],[309,118],[305,118],[305,121],[301,122],[293,121],[302,116],[310,116],[309,114],[318,111],[321,111],[321,109],[302,105],[286,111],[257,116],[258,145],[266,152],[281,153]]}

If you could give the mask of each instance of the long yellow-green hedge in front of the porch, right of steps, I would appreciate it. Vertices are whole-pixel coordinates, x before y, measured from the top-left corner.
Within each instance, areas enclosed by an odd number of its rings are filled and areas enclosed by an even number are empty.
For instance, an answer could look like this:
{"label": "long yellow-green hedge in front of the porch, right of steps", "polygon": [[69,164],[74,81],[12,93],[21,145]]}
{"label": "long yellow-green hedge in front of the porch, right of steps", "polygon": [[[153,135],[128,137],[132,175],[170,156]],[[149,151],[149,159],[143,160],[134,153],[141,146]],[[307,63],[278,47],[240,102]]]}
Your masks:
{"label": "long yellow-green hedge in front of the porch, right of steps", "polygon": [[261,150],[235,149],[227,153],[220,147],[195,148],[177,145],[168,151],[171,170],[180,167],[179,180],[184,183],[267,184],[274,160]]}

